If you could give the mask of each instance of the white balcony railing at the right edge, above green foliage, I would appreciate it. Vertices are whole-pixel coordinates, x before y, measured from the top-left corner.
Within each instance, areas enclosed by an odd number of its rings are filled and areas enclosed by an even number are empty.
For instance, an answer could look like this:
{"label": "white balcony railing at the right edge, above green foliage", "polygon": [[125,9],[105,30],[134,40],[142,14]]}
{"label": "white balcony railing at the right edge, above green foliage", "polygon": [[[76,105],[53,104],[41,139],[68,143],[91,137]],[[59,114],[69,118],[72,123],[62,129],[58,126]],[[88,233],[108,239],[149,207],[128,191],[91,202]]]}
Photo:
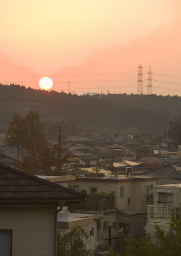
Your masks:
{"label": "white balcony railing at the right edge, above green foliage", "polygon": [[171,216],[181,219],[181,203],[155,204],[147,206],[147,221],[165,220],[170,221]]}

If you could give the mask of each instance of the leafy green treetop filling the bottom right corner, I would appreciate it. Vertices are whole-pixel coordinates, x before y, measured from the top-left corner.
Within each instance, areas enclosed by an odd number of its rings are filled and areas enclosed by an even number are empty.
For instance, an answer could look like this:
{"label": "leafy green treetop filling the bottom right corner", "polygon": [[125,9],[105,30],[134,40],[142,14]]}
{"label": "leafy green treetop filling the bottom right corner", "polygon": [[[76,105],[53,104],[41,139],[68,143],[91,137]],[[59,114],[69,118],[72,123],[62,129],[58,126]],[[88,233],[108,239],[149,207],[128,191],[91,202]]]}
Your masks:
{"label": "leafy green treetop filling the bottom right corner", "polygon": [[165,233],[155,224],[155,233],[146,239],[136,240],[132,235],[125,238],[125,256],[181,256],[181,221],[171,218],[172,232]]}

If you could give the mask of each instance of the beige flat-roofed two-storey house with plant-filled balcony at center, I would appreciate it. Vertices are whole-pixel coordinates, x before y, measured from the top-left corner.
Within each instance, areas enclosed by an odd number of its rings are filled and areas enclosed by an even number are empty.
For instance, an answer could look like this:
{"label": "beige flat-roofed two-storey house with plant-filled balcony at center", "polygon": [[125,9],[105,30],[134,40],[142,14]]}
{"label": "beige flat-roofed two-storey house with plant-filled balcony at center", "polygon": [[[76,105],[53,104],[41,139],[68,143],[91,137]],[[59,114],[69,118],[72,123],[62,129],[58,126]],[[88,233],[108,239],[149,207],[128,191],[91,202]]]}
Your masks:
{"label": "beige flat-roofed two-storey house with plant-filled balcony at center", "polygon": [[[105,219],[101,220],[101,243],[106,243],[110,239],[110,233],[112,238],[119,239],[128,231],[132,234],[144,233],[147,205],[153,204],[153,186],[158,184],[158,178],[132,174],[114,178],[108,175],[103,178],[76,177],[69,186],[76,186],[76,191],[100,194],[100,199],[87,196],[86,201],[80,203],[78,211],[97,211],[105,215]],[[103,199],[101,193],[113,194],[115,199],[110,195]],[[112,200],[115,200],[115,203]],[[111,242],[113,241],[118,242],[117,239],[111,239]]]}

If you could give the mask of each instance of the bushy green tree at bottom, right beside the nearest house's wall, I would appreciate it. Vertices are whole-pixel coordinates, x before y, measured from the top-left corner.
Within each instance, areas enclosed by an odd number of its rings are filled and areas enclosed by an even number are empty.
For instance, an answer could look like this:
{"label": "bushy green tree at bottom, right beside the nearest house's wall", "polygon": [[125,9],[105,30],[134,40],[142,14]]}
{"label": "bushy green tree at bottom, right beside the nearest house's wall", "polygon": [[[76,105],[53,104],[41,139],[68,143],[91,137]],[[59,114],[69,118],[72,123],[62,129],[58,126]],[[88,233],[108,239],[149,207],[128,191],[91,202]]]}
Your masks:
{"label": "bushy green tree at bottom, right beside the nearest house's wall", "polygon": [[87,256],[86,243],[89,235],[79,225],[63,235],[58,232],[57,256]]}

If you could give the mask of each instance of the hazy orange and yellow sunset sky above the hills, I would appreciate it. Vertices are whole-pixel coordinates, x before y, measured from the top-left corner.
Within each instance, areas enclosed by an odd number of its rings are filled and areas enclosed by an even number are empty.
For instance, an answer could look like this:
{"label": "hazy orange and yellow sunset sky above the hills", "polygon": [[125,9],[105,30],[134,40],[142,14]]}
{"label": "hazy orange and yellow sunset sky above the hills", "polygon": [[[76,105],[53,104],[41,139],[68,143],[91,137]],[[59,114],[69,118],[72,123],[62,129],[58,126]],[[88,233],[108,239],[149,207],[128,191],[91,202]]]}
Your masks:
{"label": "hazy orange and yellow sunset sky above the hills", "polygon": [[[0,83],[181,96],[180,0],[0,0]],[[68,87],[69,84],[69,87]]]}

